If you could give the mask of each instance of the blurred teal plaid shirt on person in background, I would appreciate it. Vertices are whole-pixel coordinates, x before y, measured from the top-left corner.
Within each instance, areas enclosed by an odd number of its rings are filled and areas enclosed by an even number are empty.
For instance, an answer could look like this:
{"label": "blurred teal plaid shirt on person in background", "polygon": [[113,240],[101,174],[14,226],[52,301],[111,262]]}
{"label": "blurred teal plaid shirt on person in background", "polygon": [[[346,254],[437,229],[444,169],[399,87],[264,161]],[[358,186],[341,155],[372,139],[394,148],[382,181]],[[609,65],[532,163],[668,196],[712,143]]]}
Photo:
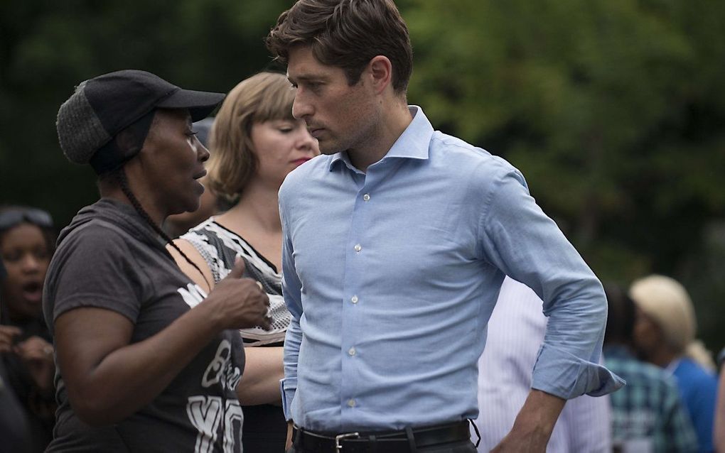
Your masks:
{"label": "blurred teal plaid shirt on person in background", "polygon": [[624,346],[604,346],[605,365],[626,386],[610,395],[615,447],[646,452],[697,452],[697,436],[676,383]]}

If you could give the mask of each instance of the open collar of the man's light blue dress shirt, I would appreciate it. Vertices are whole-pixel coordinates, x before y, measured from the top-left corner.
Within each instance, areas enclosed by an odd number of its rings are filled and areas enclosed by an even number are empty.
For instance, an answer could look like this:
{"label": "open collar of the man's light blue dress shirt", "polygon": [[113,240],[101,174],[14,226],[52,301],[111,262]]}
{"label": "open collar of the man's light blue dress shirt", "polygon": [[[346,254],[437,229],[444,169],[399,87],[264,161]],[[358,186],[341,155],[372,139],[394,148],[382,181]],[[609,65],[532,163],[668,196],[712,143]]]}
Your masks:
{"label": "open collar of the man's light blue dress shirt", "polygon": [[[389,157],[428,159],[428,145],[431,143],[431,137],[434,133],[433,125],[428,121],[428,117],[423,113],[421,107],[409,105],[408,110],[410,110],[410,115],[413,115],[413,120],[400,134],[383,159]],[[347,151],[341,151],[332,155],[329,170],[332,171],[336,166],[336,162],[340,161],[344,162],[347,167],[353,168],[347,156]]]}

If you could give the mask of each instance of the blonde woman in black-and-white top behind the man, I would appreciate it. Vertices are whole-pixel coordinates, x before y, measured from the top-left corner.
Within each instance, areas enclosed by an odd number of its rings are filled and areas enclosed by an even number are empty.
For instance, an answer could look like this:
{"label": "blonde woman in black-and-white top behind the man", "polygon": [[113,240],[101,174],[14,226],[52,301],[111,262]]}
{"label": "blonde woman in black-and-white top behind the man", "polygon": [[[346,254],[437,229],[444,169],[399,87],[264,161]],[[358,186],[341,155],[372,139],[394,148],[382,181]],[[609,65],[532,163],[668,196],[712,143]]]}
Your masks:
{"label": "blonde woman in black-and-white top behind the man", "polygon": [[247,354],[239,394],[247,452],[283,452],[286,439],[279,380],[290,314],[281,296],[277,192],[288,173],[319,154],[305,122],[292,117],[293,99],[289,81],[273,72],[254,75],[228,94],[212,127],[208,181],[215,193],[239,201],[176,241],[201,269],[199,273],[175,255],[199,285],[206,286],[208,281],[213,288],[241,256],[245,276],[257,280],[270,298],[271,330],[240,331]]}

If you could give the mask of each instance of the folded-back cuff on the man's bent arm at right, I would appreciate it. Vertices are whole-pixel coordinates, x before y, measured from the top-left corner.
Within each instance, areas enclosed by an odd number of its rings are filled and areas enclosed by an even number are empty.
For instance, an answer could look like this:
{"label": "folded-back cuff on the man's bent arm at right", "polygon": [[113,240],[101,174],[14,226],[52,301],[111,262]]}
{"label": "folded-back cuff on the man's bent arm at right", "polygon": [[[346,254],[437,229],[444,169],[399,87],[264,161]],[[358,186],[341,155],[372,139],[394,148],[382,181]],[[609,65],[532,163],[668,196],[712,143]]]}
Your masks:
{"label": "folded-back cuff on the man's bent arm at right", "polygon": [[607,368],[543,344],[534,365],[531,388],[572,399],[587,394],[602,396],[624,386],[624,379]]}

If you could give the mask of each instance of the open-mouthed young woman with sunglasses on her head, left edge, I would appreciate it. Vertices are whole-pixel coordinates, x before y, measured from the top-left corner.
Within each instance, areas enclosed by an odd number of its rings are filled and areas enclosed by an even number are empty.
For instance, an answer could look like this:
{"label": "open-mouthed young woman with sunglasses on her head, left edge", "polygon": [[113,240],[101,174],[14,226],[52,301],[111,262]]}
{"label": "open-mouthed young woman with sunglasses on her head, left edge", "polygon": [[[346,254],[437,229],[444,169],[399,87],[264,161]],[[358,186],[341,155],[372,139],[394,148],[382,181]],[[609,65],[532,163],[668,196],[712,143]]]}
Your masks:
{"label": "open-mouthed young woman with sunglasses on her head, left edge", "polygon": [[42,294],[55,246],[51,216],[31,207],[0,208],[0,376],[22,404],[29,452],[43,452],[53,435],[53,346],[43,321]]}

